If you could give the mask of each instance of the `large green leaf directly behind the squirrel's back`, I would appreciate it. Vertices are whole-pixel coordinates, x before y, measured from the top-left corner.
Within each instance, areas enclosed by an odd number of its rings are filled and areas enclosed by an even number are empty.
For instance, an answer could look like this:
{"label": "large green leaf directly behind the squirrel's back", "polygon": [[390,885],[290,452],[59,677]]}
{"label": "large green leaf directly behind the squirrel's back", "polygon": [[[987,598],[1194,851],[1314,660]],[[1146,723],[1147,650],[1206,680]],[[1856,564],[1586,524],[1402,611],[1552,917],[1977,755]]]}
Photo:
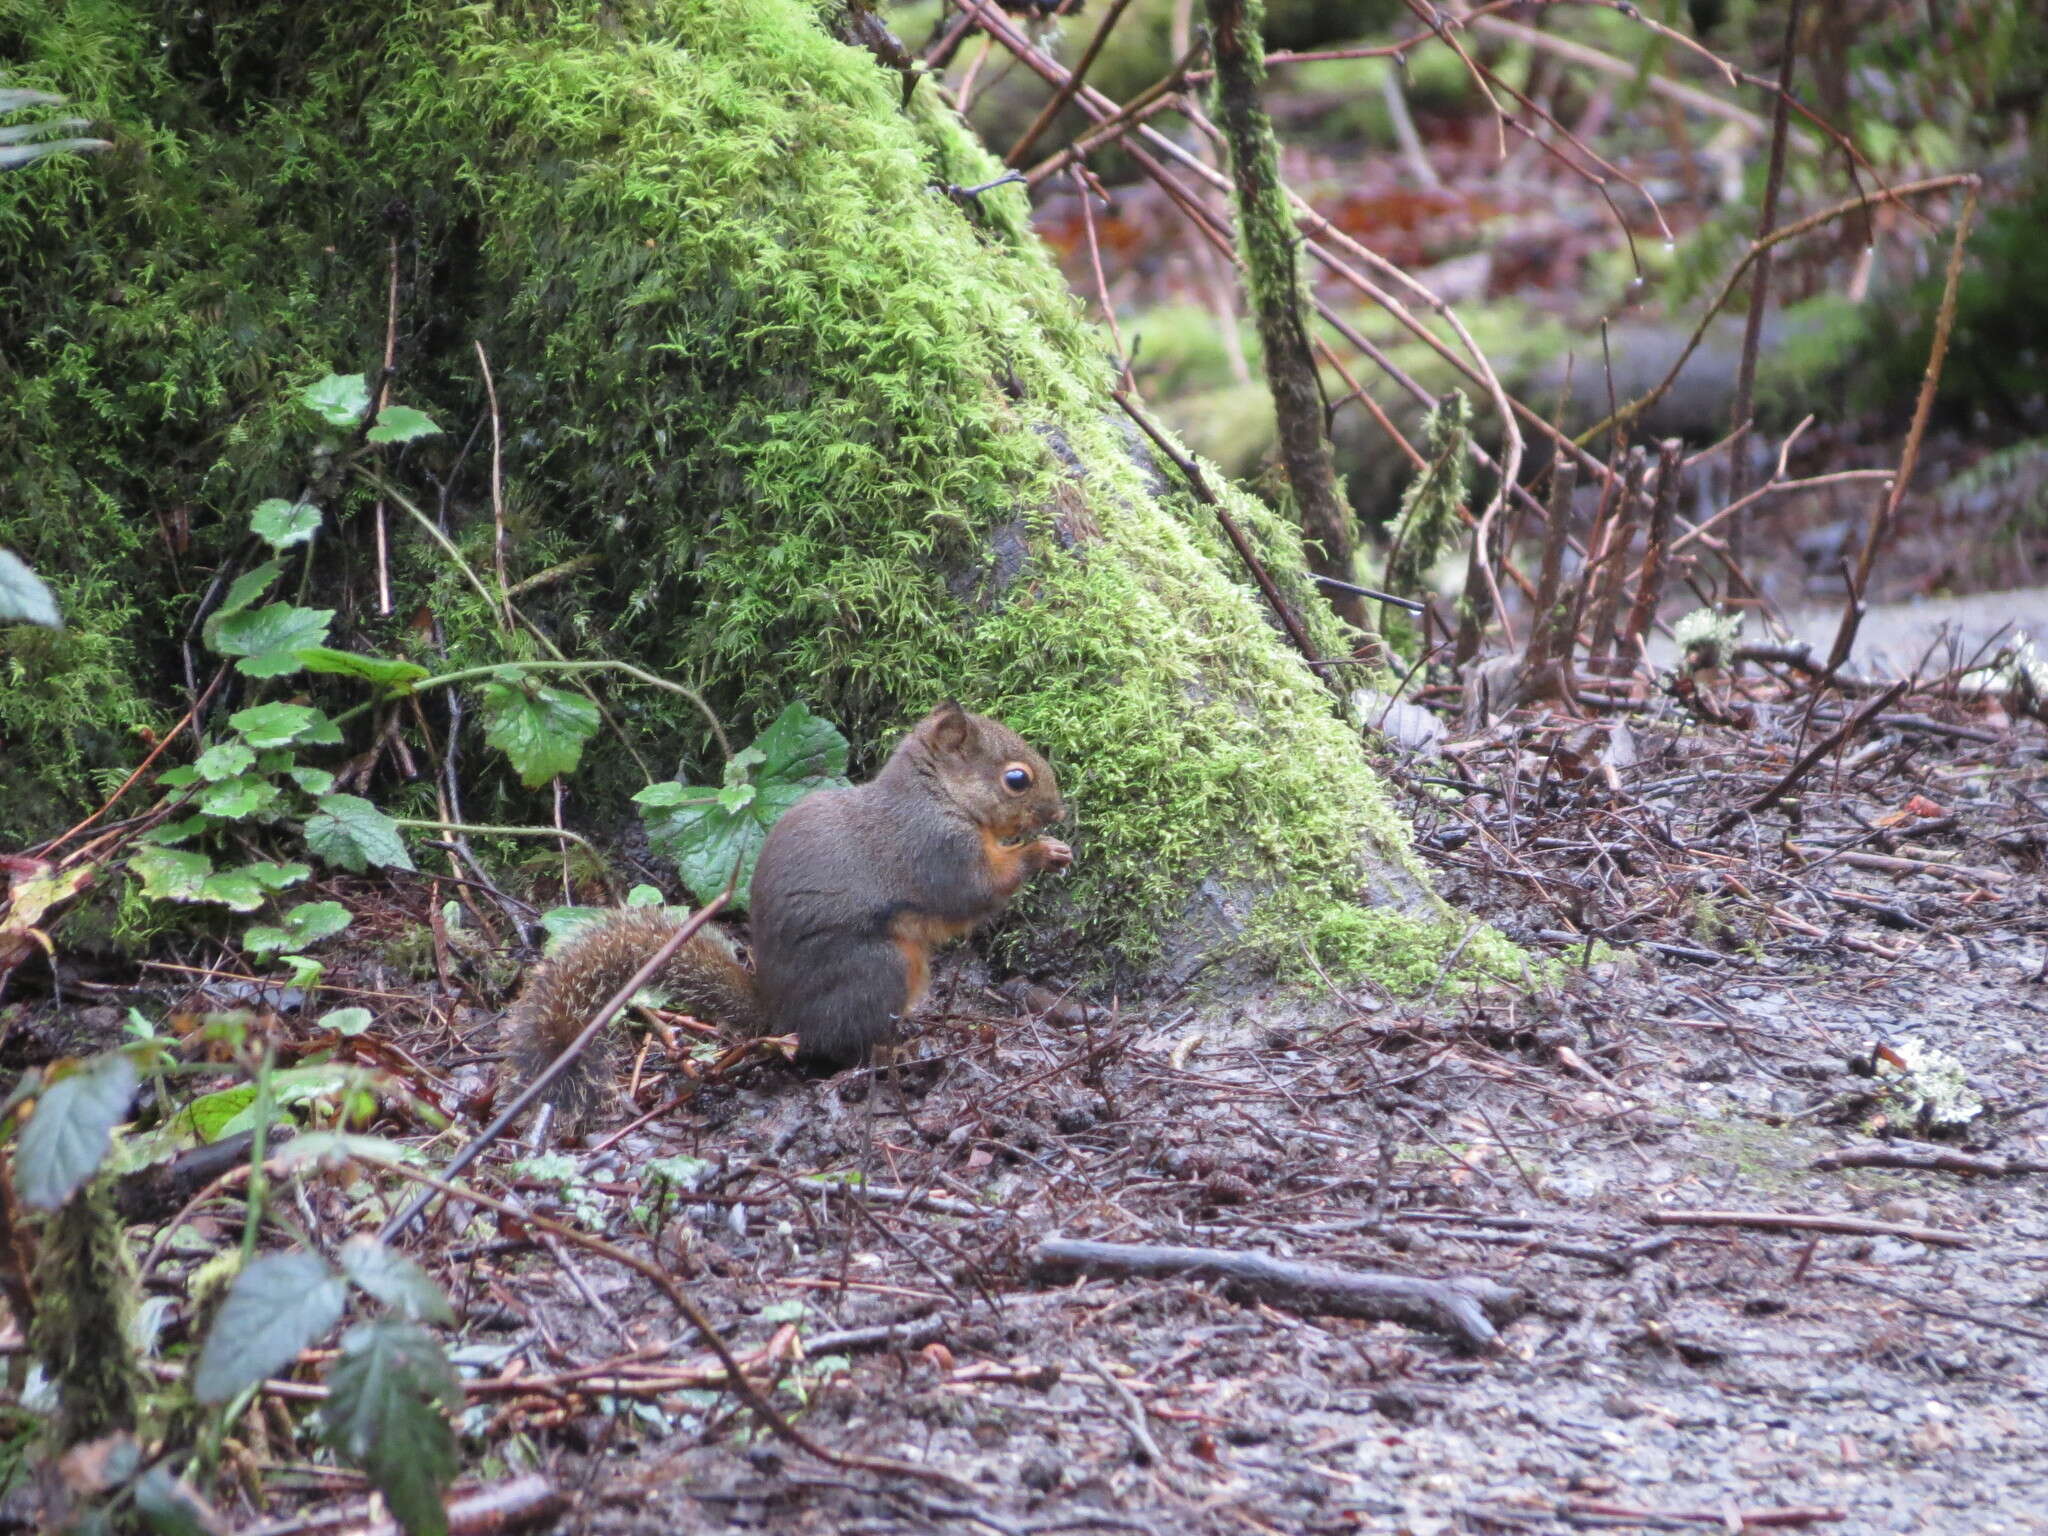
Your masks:
{"label": "large green leaf directly behind the squirrel's back", "polygon": [[737,866],[733,905],[743,907],[768,829],[811,791],[846,784],[844,772],[846,737],[791,705],[727,760],[723,786],[649,784],[633,799],[653,850],[676,862],[692,895],[723,891]]}

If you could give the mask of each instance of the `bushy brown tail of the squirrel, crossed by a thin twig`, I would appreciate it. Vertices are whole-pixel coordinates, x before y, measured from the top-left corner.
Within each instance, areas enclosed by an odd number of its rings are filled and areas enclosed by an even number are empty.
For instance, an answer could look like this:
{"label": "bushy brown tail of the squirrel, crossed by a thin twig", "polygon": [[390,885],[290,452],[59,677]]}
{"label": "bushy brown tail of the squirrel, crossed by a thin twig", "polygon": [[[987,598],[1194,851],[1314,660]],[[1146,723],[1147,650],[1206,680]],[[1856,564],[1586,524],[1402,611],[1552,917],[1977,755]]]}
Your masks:
{"label": "bushy brown tail of the squirrel, crossed by a thin twig", "polygon": [[[631,907],[590,924],[555,954],[541,961],[506,1012],[504,1032],[518,1083],[530,1083],[612,999],[647,956],[686,922],[684,913]],[[737,1034],[760,1034],[754,977],[739,965],[731,940],[705,926],[655,973],[649,989],[670,1008]],[[610,1024],[569,1063],[545,1096],[557,1122],[573,1126],[602,1110],[616,1094],[618,1026]]]}

